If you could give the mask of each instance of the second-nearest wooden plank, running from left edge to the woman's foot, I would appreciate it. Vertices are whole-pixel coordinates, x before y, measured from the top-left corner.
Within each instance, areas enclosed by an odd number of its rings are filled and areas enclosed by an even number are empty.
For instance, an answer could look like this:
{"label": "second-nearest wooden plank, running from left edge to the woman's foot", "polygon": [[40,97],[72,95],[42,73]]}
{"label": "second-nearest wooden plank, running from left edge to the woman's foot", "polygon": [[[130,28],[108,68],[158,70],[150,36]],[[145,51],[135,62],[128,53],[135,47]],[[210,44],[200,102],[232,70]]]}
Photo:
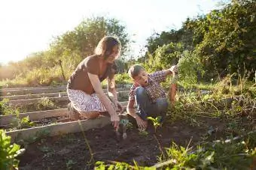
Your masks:
{"label": "second-nearest wooden plank, running from left edge to the woman's foot", "polygon": [[[19,118],[25,118],[29,116],[29,120],[34,121],[42,118],[51,118],[56,116],[64,116],[68,115],[68,109],[54,109],[54,110],[46,110],[46,111],[38,111],[38,112],[27,112],[20,113]],[[17,115],[0,115],[0,125],[8,125],[11,121],[17,118]]]}

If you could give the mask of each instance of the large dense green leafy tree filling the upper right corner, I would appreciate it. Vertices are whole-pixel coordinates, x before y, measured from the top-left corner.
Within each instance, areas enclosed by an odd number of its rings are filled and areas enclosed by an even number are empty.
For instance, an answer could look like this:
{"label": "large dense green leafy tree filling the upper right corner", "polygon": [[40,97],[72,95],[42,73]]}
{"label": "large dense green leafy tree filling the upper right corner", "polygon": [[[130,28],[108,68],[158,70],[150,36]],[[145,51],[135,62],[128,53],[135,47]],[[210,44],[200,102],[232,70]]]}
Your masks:
{"label": "large dense green leafy tree filling the upper right corner", "polygon": [[[213,10],[200,19],[187,22],[197,37],[196,53],[208,73],[224,76],[227,73],[251,71],[256,67],[255,1],[232,1],[220,10]],[[201,39],[201,40],[199,40]]]}

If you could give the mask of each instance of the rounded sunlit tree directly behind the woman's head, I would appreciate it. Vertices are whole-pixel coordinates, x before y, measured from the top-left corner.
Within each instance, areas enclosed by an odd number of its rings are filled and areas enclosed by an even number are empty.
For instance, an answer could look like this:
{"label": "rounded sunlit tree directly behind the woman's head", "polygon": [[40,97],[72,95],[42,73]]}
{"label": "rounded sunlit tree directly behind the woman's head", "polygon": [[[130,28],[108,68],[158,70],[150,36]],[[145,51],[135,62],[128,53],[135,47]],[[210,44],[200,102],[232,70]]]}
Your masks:
{"label": "rounded sunlit tree directly behind the woman's head", "polygon": [[121,54],[129,49],[130,40],[125,26],[117,19],[105,19],[103,16],[85,19],[73,31],[68,31],[59,37],[50,46],[52,56],[62,60],[75,61],[78,64],[83,58],[93,55],[93,51],[99,40],[105,35],[114,35],[122,44]]}

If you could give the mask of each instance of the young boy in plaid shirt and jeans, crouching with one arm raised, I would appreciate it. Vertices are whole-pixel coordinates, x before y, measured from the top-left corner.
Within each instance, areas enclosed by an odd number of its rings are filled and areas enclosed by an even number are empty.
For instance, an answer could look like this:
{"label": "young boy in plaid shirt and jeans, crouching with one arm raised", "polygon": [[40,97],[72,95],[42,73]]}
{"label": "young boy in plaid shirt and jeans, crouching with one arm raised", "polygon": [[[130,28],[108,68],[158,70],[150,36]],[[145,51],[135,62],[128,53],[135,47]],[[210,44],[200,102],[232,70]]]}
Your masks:
{"label": "young boy in plaid shirt and jeans, crouching with one arm raised", "polygon": [[[157,115],[166,115],[168,108],[168,100],[166,91],[160,86],[160,82],[166,81],[166,76],[175,76],[177,67],[174,65],[167,70],[161,70],[148,74],[145,69],[135,64],[130,67],[128,73],[133,79],[133,86],[129,93],[129,102],[126,111],[129,115],[136,119],[139,130],[145,130],[148,126],[147,118],[157,117]],[[139,112],[135,112],[134,103],[137,103]]]}

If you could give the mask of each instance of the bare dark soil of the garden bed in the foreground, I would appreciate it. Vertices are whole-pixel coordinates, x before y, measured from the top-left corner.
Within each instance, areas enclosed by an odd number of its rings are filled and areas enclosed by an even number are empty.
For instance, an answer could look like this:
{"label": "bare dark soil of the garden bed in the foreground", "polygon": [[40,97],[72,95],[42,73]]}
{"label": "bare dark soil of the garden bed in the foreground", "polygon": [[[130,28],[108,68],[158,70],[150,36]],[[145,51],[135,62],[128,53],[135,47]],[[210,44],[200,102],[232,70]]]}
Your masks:
{"label": "bare dark soil of the garden bed in the foreground", "polygon": [[[171,118],[169,119],[171,120]],[[20,169],[93,169],[96,161],[118,161],[139,166],[153,166],[161,149],[169,148],[172,142],[187,147],[206,140],[219,139],[224,123],[218,118],[200,118],[200,126],[191,126],[185,121],[166,121],[162,127],[148,124],[148,134],[139,133],[136,122],[127,129],[127,138],[118,140],[111,125],[84,133],[72,133],[39,139],[23,147],[19,156]],[[209,134],[211,131],[211,136]],[[208,137],[207,137],[208,136]],[[207,138],[206,138],[207,137]],[[90,154],[87,142],[93,153]]]}

